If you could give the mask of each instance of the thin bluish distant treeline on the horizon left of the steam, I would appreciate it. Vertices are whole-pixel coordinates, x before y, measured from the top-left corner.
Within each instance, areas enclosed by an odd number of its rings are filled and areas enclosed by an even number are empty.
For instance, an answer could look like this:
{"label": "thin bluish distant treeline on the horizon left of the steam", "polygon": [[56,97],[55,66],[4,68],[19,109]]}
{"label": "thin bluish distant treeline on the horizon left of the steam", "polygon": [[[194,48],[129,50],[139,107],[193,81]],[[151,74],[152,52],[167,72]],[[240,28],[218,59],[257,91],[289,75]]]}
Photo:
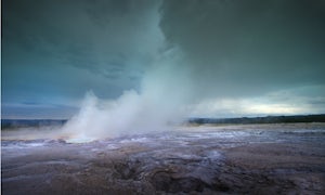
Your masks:
{"label": "thin bluish distant treeline on the horizon left of the steam", "polygon": [[67,120],[62,119],[1,119],[1,129],[27,128],[27,127],[47,127],[62,126]]}

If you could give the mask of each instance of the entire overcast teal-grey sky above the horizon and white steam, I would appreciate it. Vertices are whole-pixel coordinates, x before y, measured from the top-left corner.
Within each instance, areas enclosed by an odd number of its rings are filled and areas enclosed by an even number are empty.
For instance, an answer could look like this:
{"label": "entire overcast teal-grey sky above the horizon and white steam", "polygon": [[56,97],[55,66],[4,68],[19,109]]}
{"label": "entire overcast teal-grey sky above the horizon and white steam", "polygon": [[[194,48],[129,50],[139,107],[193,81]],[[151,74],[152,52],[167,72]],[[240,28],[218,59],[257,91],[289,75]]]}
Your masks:
{"label": "entire overcast teal-grey sky above the horizon and white steam", "polygon": [[324,35],[323,0],[2,0],[2,118],[69,118],[88,91],[187,116],[325,113]]}

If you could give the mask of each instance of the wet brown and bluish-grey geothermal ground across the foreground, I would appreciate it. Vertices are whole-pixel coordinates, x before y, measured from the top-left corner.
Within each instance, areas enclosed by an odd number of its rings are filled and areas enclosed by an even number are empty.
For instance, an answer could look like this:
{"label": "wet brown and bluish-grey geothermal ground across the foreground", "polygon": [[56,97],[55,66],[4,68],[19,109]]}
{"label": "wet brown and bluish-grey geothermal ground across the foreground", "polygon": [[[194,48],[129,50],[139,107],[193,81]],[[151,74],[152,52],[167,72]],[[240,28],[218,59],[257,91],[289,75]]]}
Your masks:
{"label": "wet brown and bluish-grey geothermal ground across the foreground", "polygon": [[54,129],[2,130],[3,195],[325,192],[322,122],[184,125],[84,143],[30,136],[43,131]]}

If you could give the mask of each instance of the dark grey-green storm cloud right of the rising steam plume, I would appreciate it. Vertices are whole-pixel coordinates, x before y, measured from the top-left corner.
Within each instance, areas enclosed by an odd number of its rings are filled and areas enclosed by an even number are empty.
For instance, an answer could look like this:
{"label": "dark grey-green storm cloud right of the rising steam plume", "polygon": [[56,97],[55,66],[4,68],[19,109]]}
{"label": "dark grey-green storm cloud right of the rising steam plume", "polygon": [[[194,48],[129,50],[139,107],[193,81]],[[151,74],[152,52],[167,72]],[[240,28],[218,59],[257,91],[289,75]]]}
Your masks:
{"label": "dark grey-green storm cloud right of the rising steam plume", "polygon": [[165,0],[160,12],[198,93],[256,95],[325,82],[322,0]]}

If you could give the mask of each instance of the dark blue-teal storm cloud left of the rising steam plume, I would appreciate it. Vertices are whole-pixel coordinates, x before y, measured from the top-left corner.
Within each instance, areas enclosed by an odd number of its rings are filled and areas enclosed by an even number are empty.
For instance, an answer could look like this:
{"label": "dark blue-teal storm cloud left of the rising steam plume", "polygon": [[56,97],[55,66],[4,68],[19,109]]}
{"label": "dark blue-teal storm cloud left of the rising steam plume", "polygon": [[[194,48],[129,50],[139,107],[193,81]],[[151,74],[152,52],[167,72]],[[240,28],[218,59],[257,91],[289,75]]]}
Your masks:
{"label": "dark blue-teal storm cloud left of the rising steam plume", "polygon": [[3,100],[80,99],[91,89],[116,98],[136,88],[161,41],[157,6],[147,0],[2,1]]}

